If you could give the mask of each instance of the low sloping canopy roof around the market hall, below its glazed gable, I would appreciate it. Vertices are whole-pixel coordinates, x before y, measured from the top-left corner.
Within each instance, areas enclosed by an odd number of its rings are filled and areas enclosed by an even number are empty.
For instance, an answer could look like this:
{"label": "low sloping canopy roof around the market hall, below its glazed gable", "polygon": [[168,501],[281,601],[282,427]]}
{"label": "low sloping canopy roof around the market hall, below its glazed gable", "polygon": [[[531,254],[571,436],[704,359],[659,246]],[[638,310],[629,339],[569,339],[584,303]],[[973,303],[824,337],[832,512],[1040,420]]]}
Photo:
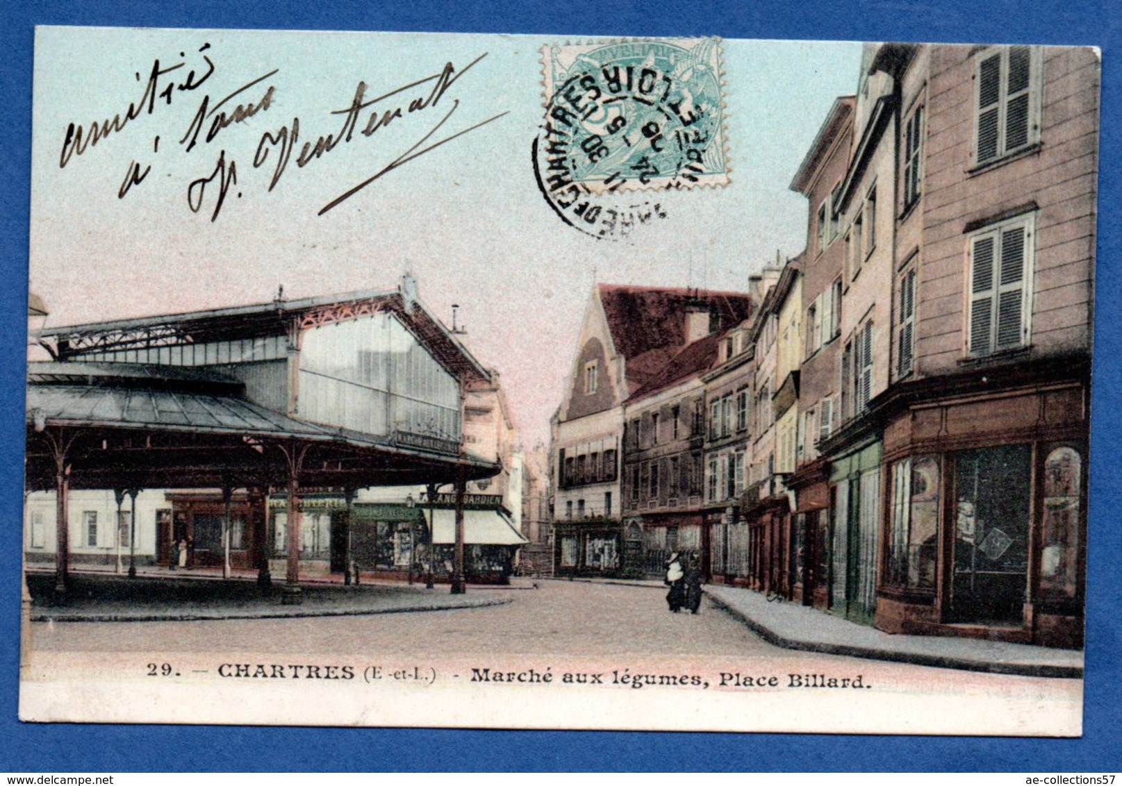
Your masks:
{"label": "low sloping canopy roof around the market hall, below its glazed gable", "polygon": [[287,477],[285,451],[304,455],[304,487],[447,483],[499,470],[288,417],[206,369],[30,363],[26,415],[31,488],[53,487],[50,441],[64,438],[74,440],[73,488],[276,486]]}

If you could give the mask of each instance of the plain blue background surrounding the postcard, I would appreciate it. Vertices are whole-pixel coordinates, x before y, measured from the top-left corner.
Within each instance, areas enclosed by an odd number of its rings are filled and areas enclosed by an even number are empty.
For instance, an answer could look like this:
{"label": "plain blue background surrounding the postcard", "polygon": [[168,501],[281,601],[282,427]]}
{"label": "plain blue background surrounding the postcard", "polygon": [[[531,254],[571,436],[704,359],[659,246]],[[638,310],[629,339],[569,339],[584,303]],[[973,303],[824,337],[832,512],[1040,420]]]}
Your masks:
{"label": "plain blue background surrounding the postcard", "polygon": [[[71,2],[6,8],[0,63],[0,770],[1122,770],[1119,745],[1122,433],[1118,300],[1122,10],[1105,2],[459,2],[325,4],[295,0]],[[269,729],[26,724],[17,720],[22,506],[24,343],[35,25],[438,30],[597,36],[1026,41],[1103,49],[1100,235],[1091,474],[1084,737],[1079,740],[659,734],[627,732]],[[59,226],[58,231],[65,231]],[[125,293],[122,293],[123,295]],[[491,719],[494,720],[494,719]]]}

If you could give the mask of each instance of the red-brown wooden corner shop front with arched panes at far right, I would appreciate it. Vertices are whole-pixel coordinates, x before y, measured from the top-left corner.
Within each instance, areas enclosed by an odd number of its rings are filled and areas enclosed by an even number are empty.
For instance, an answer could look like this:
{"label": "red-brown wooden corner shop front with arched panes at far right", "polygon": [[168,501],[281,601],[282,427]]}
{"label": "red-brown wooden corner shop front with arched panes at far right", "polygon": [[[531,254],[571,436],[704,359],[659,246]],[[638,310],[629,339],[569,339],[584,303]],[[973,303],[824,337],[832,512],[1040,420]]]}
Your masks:
{"label": "red-brown wooden corner shop front with arched panes at far right", "polygon": [[877,627],[1082,646],[1086,392],[1037,385],[889,420]]}

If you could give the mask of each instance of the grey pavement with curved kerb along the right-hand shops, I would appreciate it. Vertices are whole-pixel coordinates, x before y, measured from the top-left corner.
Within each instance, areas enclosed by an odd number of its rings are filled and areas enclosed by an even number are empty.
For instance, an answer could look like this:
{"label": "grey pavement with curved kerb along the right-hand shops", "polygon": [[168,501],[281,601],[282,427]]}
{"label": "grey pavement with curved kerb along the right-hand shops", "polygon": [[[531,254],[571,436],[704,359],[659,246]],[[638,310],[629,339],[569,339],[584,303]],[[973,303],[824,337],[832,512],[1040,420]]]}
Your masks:
{"label": "grey pavement with curved kerb along the right-hand shops", "polygon": [[769,601],[766,595],[754,590],[707,584],[705,591],[763,639],[788,649],[993,674],[1083,677],[1083,653],[1077,650],[948,636],[885,634],[818,609],[789,601]]}

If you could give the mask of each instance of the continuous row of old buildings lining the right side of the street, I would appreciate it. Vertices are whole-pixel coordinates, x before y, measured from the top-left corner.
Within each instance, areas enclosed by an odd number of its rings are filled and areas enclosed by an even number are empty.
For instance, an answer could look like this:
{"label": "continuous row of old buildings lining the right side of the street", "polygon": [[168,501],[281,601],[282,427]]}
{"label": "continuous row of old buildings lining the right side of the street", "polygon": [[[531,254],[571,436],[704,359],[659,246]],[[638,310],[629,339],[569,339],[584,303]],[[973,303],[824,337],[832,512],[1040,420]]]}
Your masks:
{"label": "continuous row of old buildings lining the right side of the street", "polygon": [[1098,92],[1092,49],[866,45],[791,182],[800,255],[594,292],[555,572],[680,551],[892,632],[1082,646]]}

